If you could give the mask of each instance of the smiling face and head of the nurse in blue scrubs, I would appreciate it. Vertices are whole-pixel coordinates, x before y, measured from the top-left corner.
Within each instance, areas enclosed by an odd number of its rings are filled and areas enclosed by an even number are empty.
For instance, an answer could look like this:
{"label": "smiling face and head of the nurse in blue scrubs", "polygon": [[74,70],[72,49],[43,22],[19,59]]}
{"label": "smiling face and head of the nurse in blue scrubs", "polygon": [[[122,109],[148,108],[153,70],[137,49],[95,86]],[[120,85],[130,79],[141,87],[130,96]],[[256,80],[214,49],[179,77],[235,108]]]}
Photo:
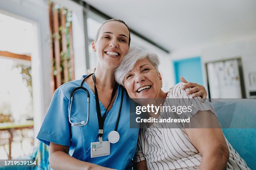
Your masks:
{"label": "smiling face and head of the nurse in blue scrubs", "polygon": [[97,68],[115,69],[129,49],[129,30],[120,22],[105,23],[99,31],[99,37],[93,42],[93,50],[97,53]]}

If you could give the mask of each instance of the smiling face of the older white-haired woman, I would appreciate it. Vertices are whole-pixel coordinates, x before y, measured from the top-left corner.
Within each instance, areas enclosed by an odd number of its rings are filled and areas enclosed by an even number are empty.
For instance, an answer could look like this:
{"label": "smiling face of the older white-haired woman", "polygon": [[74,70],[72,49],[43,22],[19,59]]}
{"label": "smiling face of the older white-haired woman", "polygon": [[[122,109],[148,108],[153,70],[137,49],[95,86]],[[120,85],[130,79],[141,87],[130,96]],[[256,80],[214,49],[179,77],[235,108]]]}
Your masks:
{"label": "smiling face of the older white-haired woman", "polygon": [[148,59],[138,60],[124,77],[130,98],[161,98],[162,78]]}

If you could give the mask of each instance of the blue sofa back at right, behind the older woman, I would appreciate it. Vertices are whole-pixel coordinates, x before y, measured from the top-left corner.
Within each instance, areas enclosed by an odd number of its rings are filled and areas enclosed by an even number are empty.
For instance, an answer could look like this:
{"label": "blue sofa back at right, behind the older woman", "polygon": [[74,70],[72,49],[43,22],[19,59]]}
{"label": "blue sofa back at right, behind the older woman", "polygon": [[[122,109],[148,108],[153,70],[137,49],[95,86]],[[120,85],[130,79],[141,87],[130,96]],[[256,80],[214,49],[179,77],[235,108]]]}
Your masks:
{"label": "blue sofa back at right, behind the older woman", "polygon": [[256,169],[256,100],[222,99],[212,102],[223,133],[251,169]]}

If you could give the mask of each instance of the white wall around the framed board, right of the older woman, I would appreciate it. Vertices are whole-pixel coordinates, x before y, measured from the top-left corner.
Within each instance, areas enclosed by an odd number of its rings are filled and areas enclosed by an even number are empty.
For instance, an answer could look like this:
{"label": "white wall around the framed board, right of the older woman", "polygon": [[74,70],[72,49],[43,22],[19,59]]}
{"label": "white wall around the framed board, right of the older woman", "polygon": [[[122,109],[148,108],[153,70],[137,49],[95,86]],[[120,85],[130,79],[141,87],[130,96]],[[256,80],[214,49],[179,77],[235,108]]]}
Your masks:
{"label": "white wall around the framed board, right of the older woman", "polygon": [[[240,57],[242,60],[243,78],[245,84],[246,98],[249,98],[249,91],[256,91],[256,88],[249,86],[250,72],[256,71],[256,34],[215,42],[204,45],[191,46],[178,49],[170,55],[171,62],[177,59],[201,57],[204,86],[207,88],[205,63],[223,59]],[[173,70],[173,65],[171,65]],[[172,82],[171,82],[172,83]]]}

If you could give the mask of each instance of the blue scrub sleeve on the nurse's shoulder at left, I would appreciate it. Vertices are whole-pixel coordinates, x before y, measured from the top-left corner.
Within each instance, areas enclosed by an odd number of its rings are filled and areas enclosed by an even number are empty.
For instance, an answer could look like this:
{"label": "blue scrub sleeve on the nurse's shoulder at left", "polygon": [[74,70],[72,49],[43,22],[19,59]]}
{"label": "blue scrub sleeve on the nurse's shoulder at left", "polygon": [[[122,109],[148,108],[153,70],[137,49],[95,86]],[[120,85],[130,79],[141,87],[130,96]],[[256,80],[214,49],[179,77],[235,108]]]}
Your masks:
{"label": "blue scrub sleeve on the nurse's shoulder at left", "polygon": [[50,142],[70,146],[68,122],[69,100],[58,88],[55,90],[37,138],[49,145]]}

